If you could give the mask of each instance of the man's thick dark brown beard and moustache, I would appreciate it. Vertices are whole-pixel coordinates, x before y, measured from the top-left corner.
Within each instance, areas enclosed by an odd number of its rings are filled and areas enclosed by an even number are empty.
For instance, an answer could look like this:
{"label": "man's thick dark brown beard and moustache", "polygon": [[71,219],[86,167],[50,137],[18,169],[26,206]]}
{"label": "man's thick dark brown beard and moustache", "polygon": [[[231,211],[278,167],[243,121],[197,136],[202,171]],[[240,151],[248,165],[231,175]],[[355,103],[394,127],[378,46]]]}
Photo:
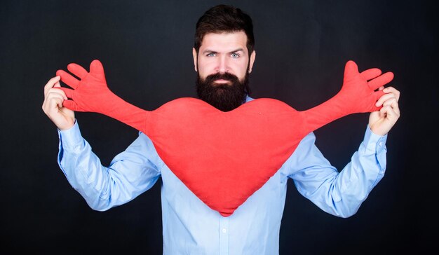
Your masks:
{"label": "man's thick dark brown beard and moustache", "polygon": [[[230,73],[210,74],[202,79],[197,72],[197,95],[199,99],[214,106],[219,111],[231,111],[243,104],[245,97],[250,95],[248,76],[248,71],[246,71],[242,82]],[[215,83],[219,79],[229,81],[229,83]]]}

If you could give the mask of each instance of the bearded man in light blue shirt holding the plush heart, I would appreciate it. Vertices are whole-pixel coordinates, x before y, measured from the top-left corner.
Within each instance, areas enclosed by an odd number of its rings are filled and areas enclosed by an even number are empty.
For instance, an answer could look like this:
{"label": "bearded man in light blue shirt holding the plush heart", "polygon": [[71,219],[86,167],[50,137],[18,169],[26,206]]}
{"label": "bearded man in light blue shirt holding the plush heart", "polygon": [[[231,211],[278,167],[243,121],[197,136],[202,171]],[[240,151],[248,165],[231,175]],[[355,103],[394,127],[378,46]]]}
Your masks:
{"label": "bearded man in light blue shirt holding the plush heart", "polygon": [[[249,74],[255,63],[252,20],[234,6],[206,11],[196,24],[192,50],[198,97],[221,111],[251,101]],[[399,117],[399,91],[392,87],[377,100],[369,125],[351,162],[338,171],[306,135],[278,171],[230,216],[205,205],[163,163],[151,139],[139,137],[103,166],[79,131],[60,76],[44,88],[43,111],[58,127],[58,163],[72,186],[98,211],[123,205],[162,179],[163,254],[278,254],[288,179],[323,211],[355,214],[386,169],[387,133]],[[257,128],[257,127],[255,127]],[[232,156],[233,157],[233,156]]]}

